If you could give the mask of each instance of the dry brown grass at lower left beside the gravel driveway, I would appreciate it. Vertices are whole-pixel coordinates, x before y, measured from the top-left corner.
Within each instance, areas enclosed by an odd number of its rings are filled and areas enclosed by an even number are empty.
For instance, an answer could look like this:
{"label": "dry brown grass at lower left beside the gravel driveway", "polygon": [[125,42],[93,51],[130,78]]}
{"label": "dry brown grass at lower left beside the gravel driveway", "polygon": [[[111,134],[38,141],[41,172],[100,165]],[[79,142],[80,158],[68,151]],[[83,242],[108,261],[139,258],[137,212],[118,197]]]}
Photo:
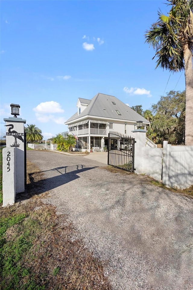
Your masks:
{"label": "dry brown grass at lower left beside the gravel driveway", "polygon": [[18,289],[111,289],[103,264],[85,247],[68,216],[56,215],[55,207],[43,203],[42,194],[34,198],[35,183],[42,178],[40,170],[28,161],[27,173],[28,195],[33,197],[1,209],[4,220],[25,216],[7,229],[3,247],[9,243],[11,247],[21,236],[30,241],[26,253],[17,261],[21,268],[16,275],[19,281],[8,271],[6,277],[1,277],[2,289],[11,290],[13,281]]}

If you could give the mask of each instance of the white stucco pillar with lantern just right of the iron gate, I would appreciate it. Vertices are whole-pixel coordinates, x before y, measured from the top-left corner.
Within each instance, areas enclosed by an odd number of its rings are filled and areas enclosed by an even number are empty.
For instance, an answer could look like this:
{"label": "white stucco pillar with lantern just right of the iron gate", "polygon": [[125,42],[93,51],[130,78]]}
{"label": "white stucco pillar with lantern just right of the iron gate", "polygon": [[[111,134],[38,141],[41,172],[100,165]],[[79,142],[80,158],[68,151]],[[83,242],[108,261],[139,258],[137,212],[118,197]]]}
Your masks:
{"label": "white stucco pillar with lantern just right of the iron gate", "polygon": [[143,148],[145,147],[145,136],[146,131],[137,129],[131,131],[133,133],[132,137],[135,138],[135,151],[134,151],[134,167],[137,174],[143,172]]}

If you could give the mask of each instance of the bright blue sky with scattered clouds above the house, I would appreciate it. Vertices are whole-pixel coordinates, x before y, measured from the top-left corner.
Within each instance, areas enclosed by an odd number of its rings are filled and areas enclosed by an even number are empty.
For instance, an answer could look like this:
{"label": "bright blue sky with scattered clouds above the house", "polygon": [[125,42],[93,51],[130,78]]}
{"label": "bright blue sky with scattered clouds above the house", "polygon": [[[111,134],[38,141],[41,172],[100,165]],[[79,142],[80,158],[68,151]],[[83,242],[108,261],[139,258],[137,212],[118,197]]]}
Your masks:
{"label": "bright blue sky with scattered clouds above the house", "polygon": [[165,2],[2,1],[1,136],[11,103],[47,139],[67,130],[79,97],[101,92],[145,110],[165,88],[183,91],[184,72],[155,70],[144,43]]}

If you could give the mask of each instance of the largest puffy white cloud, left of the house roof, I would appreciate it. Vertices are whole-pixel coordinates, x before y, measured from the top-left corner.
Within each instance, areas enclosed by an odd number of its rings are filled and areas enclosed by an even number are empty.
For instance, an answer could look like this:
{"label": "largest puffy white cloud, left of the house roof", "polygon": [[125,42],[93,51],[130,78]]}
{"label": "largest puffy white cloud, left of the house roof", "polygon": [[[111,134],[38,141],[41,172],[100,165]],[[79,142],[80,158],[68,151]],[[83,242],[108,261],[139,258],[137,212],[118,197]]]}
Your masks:
{"label": "largest puffy white cloud, left of the house roof", "polygon": [[47,113],[63,113],[64,110],[61,108],[61,105],[55,101],[43,102],[37,105],[36,108],[33,108],[33,111],[40,114]]}

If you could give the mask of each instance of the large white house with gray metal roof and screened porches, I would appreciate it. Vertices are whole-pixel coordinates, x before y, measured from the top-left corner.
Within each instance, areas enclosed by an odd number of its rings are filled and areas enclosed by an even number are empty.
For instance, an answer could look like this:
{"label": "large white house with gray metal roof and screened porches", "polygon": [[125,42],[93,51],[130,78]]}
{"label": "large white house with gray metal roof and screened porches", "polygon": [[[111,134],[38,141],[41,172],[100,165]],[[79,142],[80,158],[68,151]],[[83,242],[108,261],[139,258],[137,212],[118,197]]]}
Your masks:
{"label": "large white house with gray metal roof and screened porches", "polygon": [[109,131],[132,137],[137,121],[143,121],[143,126],[150,124],[118,98],[106,94],[98,93],[91,100],[78,98],[76,106],[77,112],[65,124],[68,133],[78,137],[76,148],[83,151],[107,146]]}

